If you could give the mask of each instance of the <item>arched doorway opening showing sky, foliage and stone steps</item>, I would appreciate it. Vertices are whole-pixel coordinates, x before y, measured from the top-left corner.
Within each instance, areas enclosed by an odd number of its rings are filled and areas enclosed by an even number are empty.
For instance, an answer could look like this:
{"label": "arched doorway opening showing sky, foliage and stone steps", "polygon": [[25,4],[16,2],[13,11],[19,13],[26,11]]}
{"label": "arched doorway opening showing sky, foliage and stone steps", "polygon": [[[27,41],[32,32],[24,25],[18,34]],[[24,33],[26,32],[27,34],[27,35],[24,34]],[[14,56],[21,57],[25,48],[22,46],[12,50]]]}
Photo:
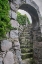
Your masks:
{"label": "arched doorway opening showing sky, foliage and stone steps", "polygon": [[[25,20],[23,16],[26,17]],[[19,35],[21,57],[23,63],[33,64],[33,42],[32,42],[32,35],[31,35],[32,18],[28,12],[22,9],[19,9],[17,11],[17,18],[18,18],[17,21],[20,23],[20,27],[21,25],[23,27],[23,30],[20,31],[21,33]]]}

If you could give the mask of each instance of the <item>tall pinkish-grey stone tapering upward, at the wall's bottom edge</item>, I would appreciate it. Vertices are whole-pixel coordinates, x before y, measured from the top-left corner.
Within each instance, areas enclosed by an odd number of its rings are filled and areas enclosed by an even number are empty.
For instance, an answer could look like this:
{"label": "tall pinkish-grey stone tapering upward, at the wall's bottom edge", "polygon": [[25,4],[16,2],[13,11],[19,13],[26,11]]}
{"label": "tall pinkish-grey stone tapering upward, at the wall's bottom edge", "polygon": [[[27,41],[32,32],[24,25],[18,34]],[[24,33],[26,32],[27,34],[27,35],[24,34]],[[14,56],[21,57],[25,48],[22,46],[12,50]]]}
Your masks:
{"label": "tall pinkish-grey stone tapering upward, at the wall's bottom edge", "polygon": [[7,52],[6,57],[4,58],[4,64],[14,64],[14,56],[11,51]]}

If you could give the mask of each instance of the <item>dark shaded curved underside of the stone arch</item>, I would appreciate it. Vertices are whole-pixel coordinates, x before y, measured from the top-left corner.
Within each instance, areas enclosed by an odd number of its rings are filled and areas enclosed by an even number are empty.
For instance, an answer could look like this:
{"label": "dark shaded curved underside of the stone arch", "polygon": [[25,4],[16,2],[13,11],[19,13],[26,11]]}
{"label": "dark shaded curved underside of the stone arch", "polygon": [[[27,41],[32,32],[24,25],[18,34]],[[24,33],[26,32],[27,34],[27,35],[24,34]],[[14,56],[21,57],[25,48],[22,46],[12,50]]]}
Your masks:
{"label": "dark shaded curved underside of the stone arch", "polygon": [[34,7],[32,7],[31,5],[29,4],[22,4],[19,9],[22,9],[22,10],[25,10],[27,11],[31,18],[32,18],[32,25],[33,25],[33,28],[37,29],[38,28],[38,24],[39,24],[39,16],[37,14],[37,11]]}

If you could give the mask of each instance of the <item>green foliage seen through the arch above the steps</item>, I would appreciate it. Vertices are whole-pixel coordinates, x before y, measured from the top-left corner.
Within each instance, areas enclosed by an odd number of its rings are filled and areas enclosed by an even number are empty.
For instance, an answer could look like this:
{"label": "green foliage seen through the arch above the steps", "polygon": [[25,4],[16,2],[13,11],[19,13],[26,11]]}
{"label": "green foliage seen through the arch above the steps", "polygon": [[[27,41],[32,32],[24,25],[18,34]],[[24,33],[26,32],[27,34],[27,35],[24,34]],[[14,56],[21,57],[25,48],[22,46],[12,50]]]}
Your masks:
{"label": "green foliage seen through the arch above the steps", "polygon": [[22,15],[21,13],[17,12],[17,21],[20,25],[26,25],[26,20],[28,24],[30,24],[29,18],[25,15]]}

